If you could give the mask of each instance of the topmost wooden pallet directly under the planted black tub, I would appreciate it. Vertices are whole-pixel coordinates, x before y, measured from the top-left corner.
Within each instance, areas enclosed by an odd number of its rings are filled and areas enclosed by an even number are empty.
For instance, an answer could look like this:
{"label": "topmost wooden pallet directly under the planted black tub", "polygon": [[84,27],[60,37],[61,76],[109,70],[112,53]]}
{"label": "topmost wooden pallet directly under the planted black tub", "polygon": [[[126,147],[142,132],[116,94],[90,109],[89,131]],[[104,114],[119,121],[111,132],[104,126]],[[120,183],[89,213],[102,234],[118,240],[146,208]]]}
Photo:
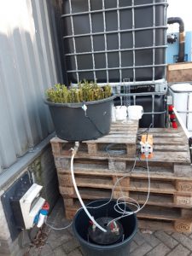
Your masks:
{"label": "topmost wooden pallet directly under the planted black tub", "polygon": [[[106,157],[108,153],[105,151],[105,148],[111,143],[119,147],[124,147],[125,156],[134,157],[137,148],[137,130],[137,120],[127,120],[125,123],[113,123],[108,135],[96,140],[80,143],[77,157],[96,157],[97,159]],[[70,148],[73,147],[73,143],[67,143],[67,141],[61,140],[58,137],[51,139],[50,143],[55,156],[71,156]]]}

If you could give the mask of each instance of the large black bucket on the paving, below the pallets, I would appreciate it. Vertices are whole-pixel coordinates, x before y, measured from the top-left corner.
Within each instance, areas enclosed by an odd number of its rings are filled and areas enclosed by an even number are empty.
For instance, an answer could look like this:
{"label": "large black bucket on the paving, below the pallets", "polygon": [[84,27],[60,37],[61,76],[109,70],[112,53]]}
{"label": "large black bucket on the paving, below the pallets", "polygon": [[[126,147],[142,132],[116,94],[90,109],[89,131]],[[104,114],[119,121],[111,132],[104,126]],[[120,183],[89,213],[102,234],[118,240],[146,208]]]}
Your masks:
{"label": "large black bucket on the paving, below the pallets", "polygon": [[[108,200],[99,200],[91,202],[87,207],[99,207],[102,204],[107,203]],[[110,201],[106,206],[91,209],[88,208],[90,215],[95,219],[108,217],[118,218],[120,213],[116,212],[113,207],[116,201]],[[126,207],[126,211],[131,211],[129,207]],[[113,245],[98,245],[92,242],[89,238],[90,219],[86,215],[83,209],[76,213],[73,220],[73,232],[74,236],[79,240],[82,247],[84,256],[128,256],[130,255],[131,240],[137,232],[137,217],[136,214],[120,218],[119,223],[124,230],[123,239],[114,243]]]}

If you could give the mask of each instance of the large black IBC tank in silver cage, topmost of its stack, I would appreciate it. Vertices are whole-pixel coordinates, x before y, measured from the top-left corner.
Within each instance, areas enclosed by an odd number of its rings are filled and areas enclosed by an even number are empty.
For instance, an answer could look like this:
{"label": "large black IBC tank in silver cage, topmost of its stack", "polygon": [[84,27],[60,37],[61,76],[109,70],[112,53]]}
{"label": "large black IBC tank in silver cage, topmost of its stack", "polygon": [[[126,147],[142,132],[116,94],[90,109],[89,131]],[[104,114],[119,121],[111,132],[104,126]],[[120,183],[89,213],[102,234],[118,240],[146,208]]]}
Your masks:
{"label": "large black IBC tank in silver cage, topmost of its stack", "polygon": [[68,82],[165,79],[166,0],[63,1]]}

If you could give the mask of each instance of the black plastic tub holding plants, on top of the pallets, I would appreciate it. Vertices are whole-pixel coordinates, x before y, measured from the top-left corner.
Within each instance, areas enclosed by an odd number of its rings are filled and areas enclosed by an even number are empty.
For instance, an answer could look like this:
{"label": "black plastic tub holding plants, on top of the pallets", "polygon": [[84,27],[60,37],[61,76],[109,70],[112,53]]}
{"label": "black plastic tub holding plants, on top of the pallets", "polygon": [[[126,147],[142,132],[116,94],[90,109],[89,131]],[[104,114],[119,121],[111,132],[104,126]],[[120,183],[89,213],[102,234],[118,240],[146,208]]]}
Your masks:
{"label": "black plastic tub holding plants, on top of the pallets", "polygon": [[95,102],[54,103],[45,101],[49,110],[55,132],[61,139],[81,142],[107,135],[110,131],[113,96]]}

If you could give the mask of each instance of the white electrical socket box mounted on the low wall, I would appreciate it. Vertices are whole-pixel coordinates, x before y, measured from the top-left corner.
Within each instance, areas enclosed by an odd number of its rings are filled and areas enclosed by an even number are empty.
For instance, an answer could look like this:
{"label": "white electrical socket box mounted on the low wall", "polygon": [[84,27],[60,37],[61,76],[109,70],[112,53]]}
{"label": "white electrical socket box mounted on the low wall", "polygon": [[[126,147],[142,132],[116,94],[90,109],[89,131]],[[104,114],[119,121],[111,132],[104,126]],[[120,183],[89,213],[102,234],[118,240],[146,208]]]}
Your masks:
{"label": "white electrical socket box mounted on the low wall", "polygon": [[34,224],[34,219],[44,205],[44,198],[40,196],[42,186],[33,183],[26,191],[17,191],[10,198],[10,204],[14,213],[15,223],[22,230],[29,230]]}

